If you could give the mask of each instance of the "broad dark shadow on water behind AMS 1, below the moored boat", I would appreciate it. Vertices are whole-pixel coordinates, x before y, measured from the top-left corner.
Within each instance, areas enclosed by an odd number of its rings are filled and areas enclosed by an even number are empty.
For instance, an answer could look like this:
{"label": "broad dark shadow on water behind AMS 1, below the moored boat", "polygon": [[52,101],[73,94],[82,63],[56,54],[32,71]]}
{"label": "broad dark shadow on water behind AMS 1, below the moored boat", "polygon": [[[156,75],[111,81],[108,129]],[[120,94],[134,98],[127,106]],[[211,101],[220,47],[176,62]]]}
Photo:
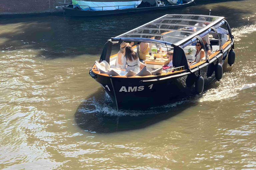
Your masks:
{"label": "broad dark shadow on water behind AMS 1, below the moored boat", "polygon": [[[207,1],[207,3],[211,3],[211,1]],[[74,18],[59,16],[59,14],[7,18],[0,16],[0,48],[37,50],[38,56],[48,59],[76,57],[82,54],[100,56],[104,44],[109,38],[123,34],[165,14],[208,15],[209,9],[202,8],[200,4],[150,13],[90,18]],[[248,11],[249,9],[235,9],[234,11],[231,6],[219,6],[212,10],[211,14],[225,16],[230,26],[236,27],[237,23],[248,24],[247,20],[243,19],[243,15],[249,13]],[[236,20],[233,21],[233,18]]]}

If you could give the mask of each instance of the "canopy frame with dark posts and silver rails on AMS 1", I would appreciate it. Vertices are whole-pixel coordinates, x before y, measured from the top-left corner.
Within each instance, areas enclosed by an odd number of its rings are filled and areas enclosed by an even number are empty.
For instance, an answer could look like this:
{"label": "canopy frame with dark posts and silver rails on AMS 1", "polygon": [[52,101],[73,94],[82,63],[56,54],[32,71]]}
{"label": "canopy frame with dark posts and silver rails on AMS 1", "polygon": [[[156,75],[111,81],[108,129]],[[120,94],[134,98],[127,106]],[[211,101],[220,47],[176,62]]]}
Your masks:
{"label": "canopy frame with dark posts and silver rails on AMS 1", "polygon": [[[174,30],[174,29],[164,29],[164,31],[169,31],[170,33],[172,32],[188,32],[188,33],[192,33],[191,35],[189,35],[188,37],[182,39],[180,37],[175,37],[175,36],[168,36],[168,35],[165,35],[165,34],[141,34],[141,33],[132,33],[136,30],[143,30],[143,27],[145,26],[148,26],[148,25],[151,25],[151,24],[169,24],[169,23],[154,23],[156,21],[159,21],[159,20],[162,20],[164,19],[164,17],[172,17],[172,16],[178,16],[180,14],[170,14],[170,15],[164,15],[156,20],[153,20],[147,24],[144,24],[138,28],[135,28],[131,31],[128,31],[127,33],[124,33],[120,36],[117,36],[117,37],[112,37],[110,40],[108,40],[108,42],[105,44],[104,46],[104,49],[102,51],[102,54],[101,54],[101,57],[100,57],[100,60],[106,60],[108,63],[110,61],[110,55],[111,55],[111,50],[112,50],[112,44],[113,43],[120,43],[122,41],[125,41],[125,42],[147,42],[147,43],[159,43],[159,44],[163,44],[165,45],[167,48],[168,46],[171,48],[171,47],[174,47],[174,54],[176,57],[173,57],[176,58],[174,60],[174,66],[175,67],[179,67],[179,66],[185,66],[185,69],[191,71],[190,67],[188,66],[187,62],[185,62],[185,53],[184,53],[184,50],[181,51],[181,49],[184,49],[186,46],[188,46],[189,44],[195,42],[195,41],[200,41],[201,43],[202,42],[202,38],[204,36],[206,36],[207,34],[209,34],[210,32],[215,32],[217,37],[218,37],[218,40],[220,42],[220,38],[218,36],[218,33],[216,31],[217,28],[221,27],[223,24],[226,24],[227,25],[227,28],[228,28],[228,33],[229,33],[229,36],[230,36],[230,39],[231,41],[233,42],[233,39],[232,39],[232,35],[231,35],[231,30],[230,30],[230,27],[227,23],[226,20],[224,20],[224,17],[215,17],[215,16],[208,16],[208,15],[188,15],[188,14],[185,14],[185,15],[180,15],[180,16],[198,16],[198,17],[208,17],[208,18],[217,18],[215,21],[212,21],[209,25],[207,25],[206,27],[201,27],[201,29],[197,32],[190,32],[190,31],[184,31],[184,30]],[[175,20],[176,18],[174,18]],[[182,19],[180,19],[182,21]],[[191,20],[191,19],[186,19],[186,20]],[[165,20],[163,20],[165,21]],[[197,21],[197,20],[195,20]],[[201,20],[200,20],[201,21]],[[174,25],[177,25],[177,26],[184,26],[184,24],[174,24]],[[191,25],[185,25],[185,26],[191,26]],[[199,28],[199,27],[197,27]],[[161,30],[161,28],[145,28],[145,30]],[[168,32],[167,32],[168,33]],[[126,35],[143,35],[143,36],[151,36],[151,38],[136,38],[136,37],[125,37]],[[159,36],[159,37],[162,37],[164,39],[164,37],[170,37],[170,38],[177,38],[177,39],[182,39],[181,41],[178,41],[178,42],[175,42],[175,43],[172,43],[172,42],[167,42],[167,41],[161,41],[161,40],[155,40],[153,39],[152,36]],[[220,45],[220,52],[223,53],[223,48],[222,48],[222,44],[221,42],[219,43]],[[203,47],[204,50],[206,51],[205,47]],[[177,51],[176,51],[177,50]],[[205,56],[206,56],[206,62],[209,63],[210,60],[209,60],[209,57],[207,55],[207,53],[205,53]],[[178,57],[178,58],[177,58]],[[179,61],[178,61],[179,60]],[[176,64],[175,64],[176,63]],[[182,65],[181,65],[182,64]]]}

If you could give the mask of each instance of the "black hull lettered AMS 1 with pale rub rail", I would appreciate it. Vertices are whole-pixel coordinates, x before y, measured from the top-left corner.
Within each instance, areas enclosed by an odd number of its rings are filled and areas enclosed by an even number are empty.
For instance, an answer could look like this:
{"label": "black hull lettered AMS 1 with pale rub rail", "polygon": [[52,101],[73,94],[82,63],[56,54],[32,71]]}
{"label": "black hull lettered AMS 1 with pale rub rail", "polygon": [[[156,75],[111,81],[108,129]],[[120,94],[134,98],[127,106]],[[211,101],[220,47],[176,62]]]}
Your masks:
{"label": "black hull lettered AMS 1 with pale rub rail", "polygon": [[[224,50],[224,55],[219,54],[217,56],[222,65],[226,61],[222,58],[226,58],[230,48],[231,44]],[[217,58],[212,58],[211,62],[215,64]],[[201,76],[204,78],[204,87],[215,78],[214,73],[207,77],[208,67],[209,65],[200,68]],[[184,72],[175,75],[157,78],[120,78],[97,74],[95,80],[115,102],[117,109],[138,110],[169,104],[195,94],[194,82],[198,72],[198,69],[192,73],[184,70]],[[187,79],[191,79],[191,77],[193,84],[188,85]]]}

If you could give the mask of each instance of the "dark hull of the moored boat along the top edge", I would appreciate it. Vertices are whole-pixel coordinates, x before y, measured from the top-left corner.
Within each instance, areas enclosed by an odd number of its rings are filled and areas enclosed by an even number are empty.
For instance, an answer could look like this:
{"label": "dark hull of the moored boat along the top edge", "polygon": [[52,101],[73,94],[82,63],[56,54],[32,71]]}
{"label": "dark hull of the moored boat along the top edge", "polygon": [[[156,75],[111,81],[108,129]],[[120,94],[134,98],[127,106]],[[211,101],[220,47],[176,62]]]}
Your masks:
{"label": "dark hull of the moored boat along the top edge", "polygon": [[135,12],[144,12],[144,11],[152,11],[152,10],[180,8],[180,7],[191,5],[192,2],[194,2],[194,0],[191,0],[187,3],[180,4],[180,5],[120,9],[120,10],[106,10],[106,11],[84,11],[84,10],[78,10],[78,9],[72,8],[72,7],[63,7],[63,10],[66,12],[66,15],[68,15],[68,16],[86,17],[86,16],[114,15],[114,14],[122,14],[122,13],[135,13]]}

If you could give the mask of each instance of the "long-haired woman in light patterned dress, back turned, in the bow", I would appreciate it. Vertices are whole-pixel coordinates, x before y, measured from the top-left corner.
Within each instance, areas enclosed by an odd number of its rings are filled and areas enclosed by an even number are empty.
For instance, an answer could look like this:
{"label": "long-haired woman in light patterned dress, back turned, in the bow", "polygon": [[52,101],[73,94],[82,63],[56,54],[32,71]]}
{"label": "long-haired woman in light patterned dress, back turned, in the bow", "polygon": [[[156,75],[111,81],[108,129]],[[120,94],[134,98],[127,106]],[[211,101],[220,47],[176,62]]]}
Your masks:
{"label": "long-haired woman in light patterned dress, back turned, in the bow", "polygon": [[[126,67],[127,64],[127,67]],[[127,45],[125,47],[125,55],[123,60],[123,66],[121,69],[125,69],[125,71],[134,71],[139,72],[140,71],[140,60],[139,56],[136,52],[133,51],[131,45]]]}

